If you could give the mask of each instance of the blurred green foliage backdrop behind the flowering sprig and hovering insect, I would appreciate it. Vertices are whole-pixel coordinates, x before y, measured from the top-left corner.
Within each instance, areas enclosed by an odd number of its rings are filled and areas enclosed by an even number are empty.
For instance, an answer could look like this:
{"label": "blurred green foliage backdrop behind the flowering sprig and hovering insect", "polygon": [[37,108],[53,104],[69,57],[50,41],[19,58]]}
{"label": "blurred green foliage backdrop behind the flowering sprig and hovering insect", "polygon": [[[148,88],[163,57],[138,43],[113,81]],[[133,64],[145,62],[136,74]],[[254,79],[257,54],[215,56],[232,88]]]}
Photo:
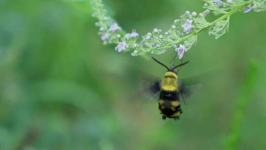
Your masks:
{"label": "blurred green foliage backdrop behind the flowering sprig and hovering insect", "polygon": [[[140,36],[203,11],[200,0],[103,2]],[[0,0],[0,150],[266,150],[266,12],[234,14],[218,40],[199,35],[180,78],[211,75],[178,121],[131,98],[165,68],[102,45],[91,15],[89,0]]]}

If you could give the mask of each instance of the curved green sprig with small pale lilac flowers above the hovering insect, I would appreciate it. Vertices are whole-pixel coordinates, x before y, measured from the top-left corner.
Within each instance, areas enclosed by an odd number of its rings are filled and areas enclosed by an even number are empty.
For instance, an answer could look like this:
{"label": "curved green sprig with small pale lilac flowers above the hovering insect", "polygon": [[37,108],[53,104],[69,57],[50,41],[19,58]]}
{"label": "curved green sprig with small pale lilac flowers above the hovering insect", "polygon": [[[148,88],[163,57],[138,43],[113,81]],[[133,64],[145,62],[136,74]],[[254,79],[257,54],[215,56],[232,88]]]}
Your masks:
{"label": "curved green sprig with small pale lilac flowers above the hovering insect", "polygon": [[[154,29],[152,32],[142,36],[141,41],[136,30],[125,33],[114,20],[105,16],[101,0],[93,0],[94,16],[99,19],[96,25],[100,28],[100,38],[104,44],[115,43],[118,53],[133,49],[132,56],[146,53],[163,54],[169,48],[174,48],[178,58],[182,59],[184,53],[197,43],[200,32],[208,30],[209,35],[216,39],[223,36],[229,29],[230,16],[238,11],[247,13],[251,10],[265,11],[266,0],[203,0],[205,9],[199,14],[197,12],[185,11],[166,32]],[[206,21],[205,17],[213,13],[220,18],[213,22]],[[179,47],[176,45],[179,43]]]}

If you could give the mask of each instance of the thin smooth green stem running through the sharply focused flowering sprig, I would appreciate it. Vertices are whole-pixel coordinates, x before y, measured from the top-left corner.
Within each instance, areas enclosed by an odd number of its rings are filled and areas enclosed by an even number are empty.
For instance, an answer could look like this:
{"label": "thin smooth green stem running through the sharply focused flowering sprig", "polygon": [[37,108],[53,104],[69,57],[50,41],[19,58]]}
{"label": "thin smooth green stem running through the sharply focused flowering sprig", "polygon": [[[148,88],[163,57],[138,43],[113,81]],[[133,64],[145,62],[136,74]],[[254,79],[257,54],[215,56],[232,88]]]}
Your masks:
{"label": "thin smooth green stem running through the sharply focused flowering sprig", "polygon": [[[167,45],[167,46],[165,46],[164,48],[171,48],[171,47],[173,47],[174,44],[178,44],[178,43],[180,43],[180,42],[182,42],[182,41],[184,41],[184,40],[186,40],[186,39],[188,39],[188,38],[190,38],[190,37],[197,36],[197,35],[198,35],[199,33],[201,33],[202,31],[204,31],[204,30],[210,28],[211,26],[215,25],[217,22],[222,21],[222,20],[226,19],[227,17],[230,17],[230,16],[233,15],[235,12],[237,12],[237,11],[239,11],[239,10],[241,10],[241,9],[243,9],[243,8],[245,8],[245,7],[247,7],[247,6],[248,6],[249,4],[251,4],[251,3],[252,3],[252,0],[249,0],[249,1],[247,1],[247,2],[245,2],[245,3],[243,3],[243,4],[241,4],[241,5],[239,5],[238,7],[236,7],[236,8],[234,8],[233,10],[227,12],[226,14],[224,14],[223,16],[221,16],[220,18],[218,18],[218,19],[216,19],[215,21],[211,22],[209,25],[207,25],[207,26],[205,26],[205,27],[199,29],[198,31],[196,31],[196,32],[194,32],[194,33],[192,33],[192,34],[190,34],[190,35],[188,35],[188,36],[185,36],[185,37],[183,37],[183,38],[179,38],[179,39],[173,41],[170,45]],[[150,50],[152,50],[152,49],[156,49],[156,47],[149,48],[148,51],[150,51]]]}

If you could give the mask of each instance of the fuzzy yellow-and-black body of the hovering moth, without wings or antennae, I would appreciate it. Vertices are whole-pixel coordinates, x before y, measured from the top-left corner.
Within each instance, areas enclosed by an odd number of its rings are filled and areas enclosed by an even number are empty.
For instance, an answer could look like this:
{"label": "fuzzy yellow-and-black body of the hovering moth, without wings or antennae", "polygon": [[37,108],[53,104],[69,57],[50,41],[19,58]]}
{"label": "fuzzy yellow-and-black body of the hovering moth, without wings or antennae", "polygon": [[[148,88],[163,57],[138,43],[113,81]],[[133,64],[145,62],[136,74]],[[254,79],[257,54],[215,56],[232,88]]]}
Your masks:
{"label": "fuzzy yellow-and-black body of the hovering moth, without wings or antennae", "polygon": [[163,119],[178,119],[182,113],[179,101],[178,78],[173,72],[166,72],[161,82],[161,93],[159,98],[159,109]]}

